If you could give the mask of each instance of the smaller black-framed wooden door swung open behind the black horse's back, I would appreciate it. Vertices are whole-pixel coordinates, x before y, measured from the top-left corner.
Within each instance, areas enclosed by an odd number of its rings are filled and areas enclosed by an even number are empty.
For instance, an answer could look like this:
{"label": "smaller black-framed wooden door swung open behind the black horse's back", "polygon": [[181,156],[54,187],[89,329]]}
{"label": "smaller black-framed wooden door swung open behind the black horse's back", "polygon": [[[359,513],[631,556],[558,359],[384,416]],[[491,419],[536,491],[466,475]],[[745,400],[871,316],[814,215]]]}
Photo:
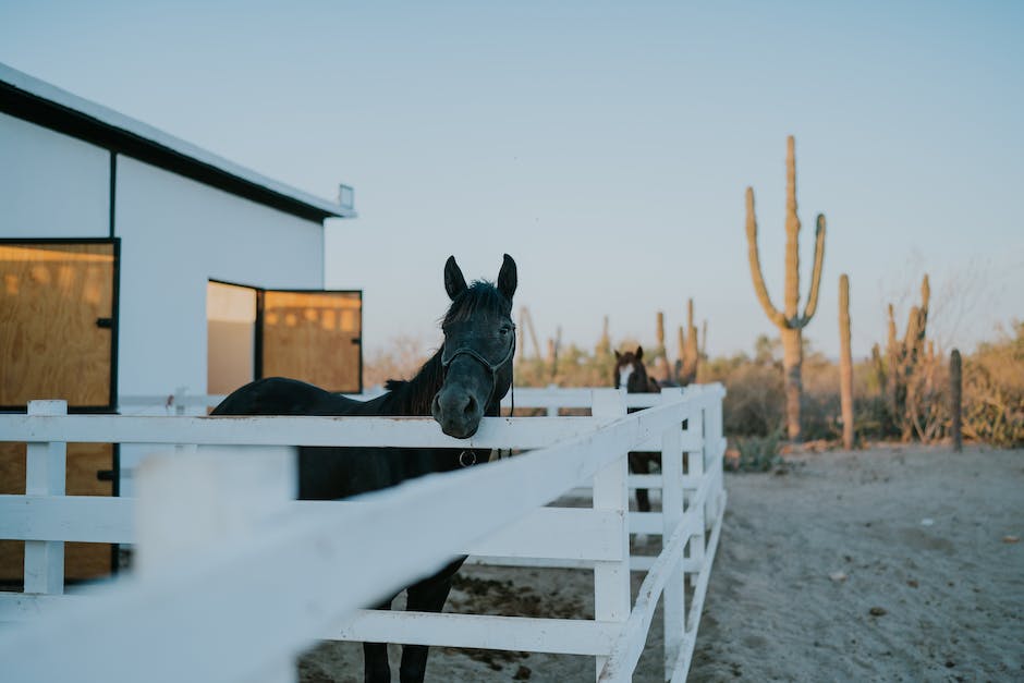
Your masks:
{"label": "smaller black-framed wooden door swung open behind the black horse's back", "polygon": [[363,390],[362,292],[260,292],[257,377]]}

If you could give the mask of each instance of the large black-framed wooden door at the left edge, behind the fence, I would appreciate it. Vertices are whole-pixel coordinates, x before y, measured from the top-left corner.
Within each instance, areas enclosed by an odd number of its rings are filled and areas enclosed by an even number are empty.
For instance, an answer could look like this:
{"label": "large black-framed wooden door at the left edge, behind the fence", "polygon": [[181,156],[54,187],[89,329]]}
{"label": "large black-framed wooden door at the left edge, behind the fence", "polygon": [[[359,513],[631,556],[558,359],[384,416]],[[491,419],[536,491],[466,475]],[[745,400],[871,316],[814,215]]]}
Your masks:
{"label": "large black-framed wooden door at the left edge, behind the fence", "polygon": [[[118,244],[0,242],[0,410],[63,399],[71,411],[107,411],[113,388]],[[69,443],[66,492],[111,496],[109,443]],[[0,493],[25,492],[25,444],[0,442]],[[0,581],[21,582],[24,544],[0,540]],[[66,544],[65,577],[109,574],[107,544]]]}

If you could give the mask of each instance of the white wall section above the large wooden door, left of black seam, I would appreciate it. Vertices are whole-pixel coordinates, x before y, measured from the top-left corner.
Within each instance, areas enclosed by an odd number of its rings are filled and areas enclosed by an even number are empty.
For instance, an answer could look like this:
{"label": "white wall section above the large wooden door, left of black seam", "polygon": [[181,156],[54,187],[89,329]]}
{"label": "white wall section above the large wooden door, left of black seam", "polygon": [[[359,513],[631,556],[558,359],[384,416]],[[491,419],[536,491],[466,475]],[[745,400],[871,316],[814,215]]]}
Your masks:
{"label": "white wall section above the large wooden door, left of black seam", "polygon": [[110,234],[110,153],[0,113],[0,237]]}

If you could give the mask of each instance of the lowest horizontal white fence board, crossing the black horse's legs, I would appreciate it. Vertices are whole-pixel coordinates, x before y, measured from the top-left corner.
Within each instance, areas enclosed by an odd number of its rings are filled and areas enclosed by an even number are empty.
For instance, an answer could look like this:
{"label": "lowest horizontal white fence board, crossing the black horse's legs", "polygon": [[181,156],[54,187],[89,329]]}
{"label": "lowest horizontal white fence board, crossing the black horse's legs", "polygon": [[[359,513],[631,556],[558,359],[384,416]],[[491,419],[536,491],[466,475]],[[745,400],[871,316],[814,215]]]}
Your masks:
{"label": "lowest horizontal white fence board, crossing the black horse's legs", "polygon": [[620,629],[617,623],[583,619],[358,610],[322,632],[321,637],[601,656],[611,651]]}

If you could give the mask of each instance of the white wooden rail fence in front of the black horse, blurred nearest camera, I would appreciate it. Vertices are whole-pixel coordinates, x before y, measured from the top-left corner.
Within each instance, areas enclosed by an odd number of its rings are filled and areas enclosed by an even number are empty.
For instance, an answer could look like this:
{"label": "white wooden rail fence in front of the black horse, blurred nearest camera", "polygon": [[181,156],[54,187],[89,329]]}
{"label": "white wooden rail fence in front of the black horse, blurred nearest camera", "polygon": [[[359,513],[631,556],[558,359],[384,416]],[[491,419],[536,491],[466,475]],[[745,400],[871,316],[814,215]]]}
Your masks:
{"label": "white wooden rail fence in front of the black horse, blurred nearest camera", "polygon": [[[425,418],[0,415],[0,440],[28,442],[26,495],[0,496],[0,538],[26,541],[25,590],[0,594],[0,620],[24,622],[0,631],[3,680],[287,681],[297,651],[333,638],[589,655],[600,681],[625,681],[662,595],[666,679],[682,680],[726,504],[723,393],[667,390],[626,415],[625,393],[596,390],[592,417],[486,418],[468,440]],[[625,454],[651,440],[665,544],[631,606]],[[64,496],[64,443],[83,441],[172,450],[141,467],[137,499]],[[293,446],[528,452],[310,502],[291,500]],[[545,507],[584,483],[592,508]],[[70,540],[134,542],[137,571],[64,595]],[[586,562],[595,618],[361,609],[464,552]]]}

